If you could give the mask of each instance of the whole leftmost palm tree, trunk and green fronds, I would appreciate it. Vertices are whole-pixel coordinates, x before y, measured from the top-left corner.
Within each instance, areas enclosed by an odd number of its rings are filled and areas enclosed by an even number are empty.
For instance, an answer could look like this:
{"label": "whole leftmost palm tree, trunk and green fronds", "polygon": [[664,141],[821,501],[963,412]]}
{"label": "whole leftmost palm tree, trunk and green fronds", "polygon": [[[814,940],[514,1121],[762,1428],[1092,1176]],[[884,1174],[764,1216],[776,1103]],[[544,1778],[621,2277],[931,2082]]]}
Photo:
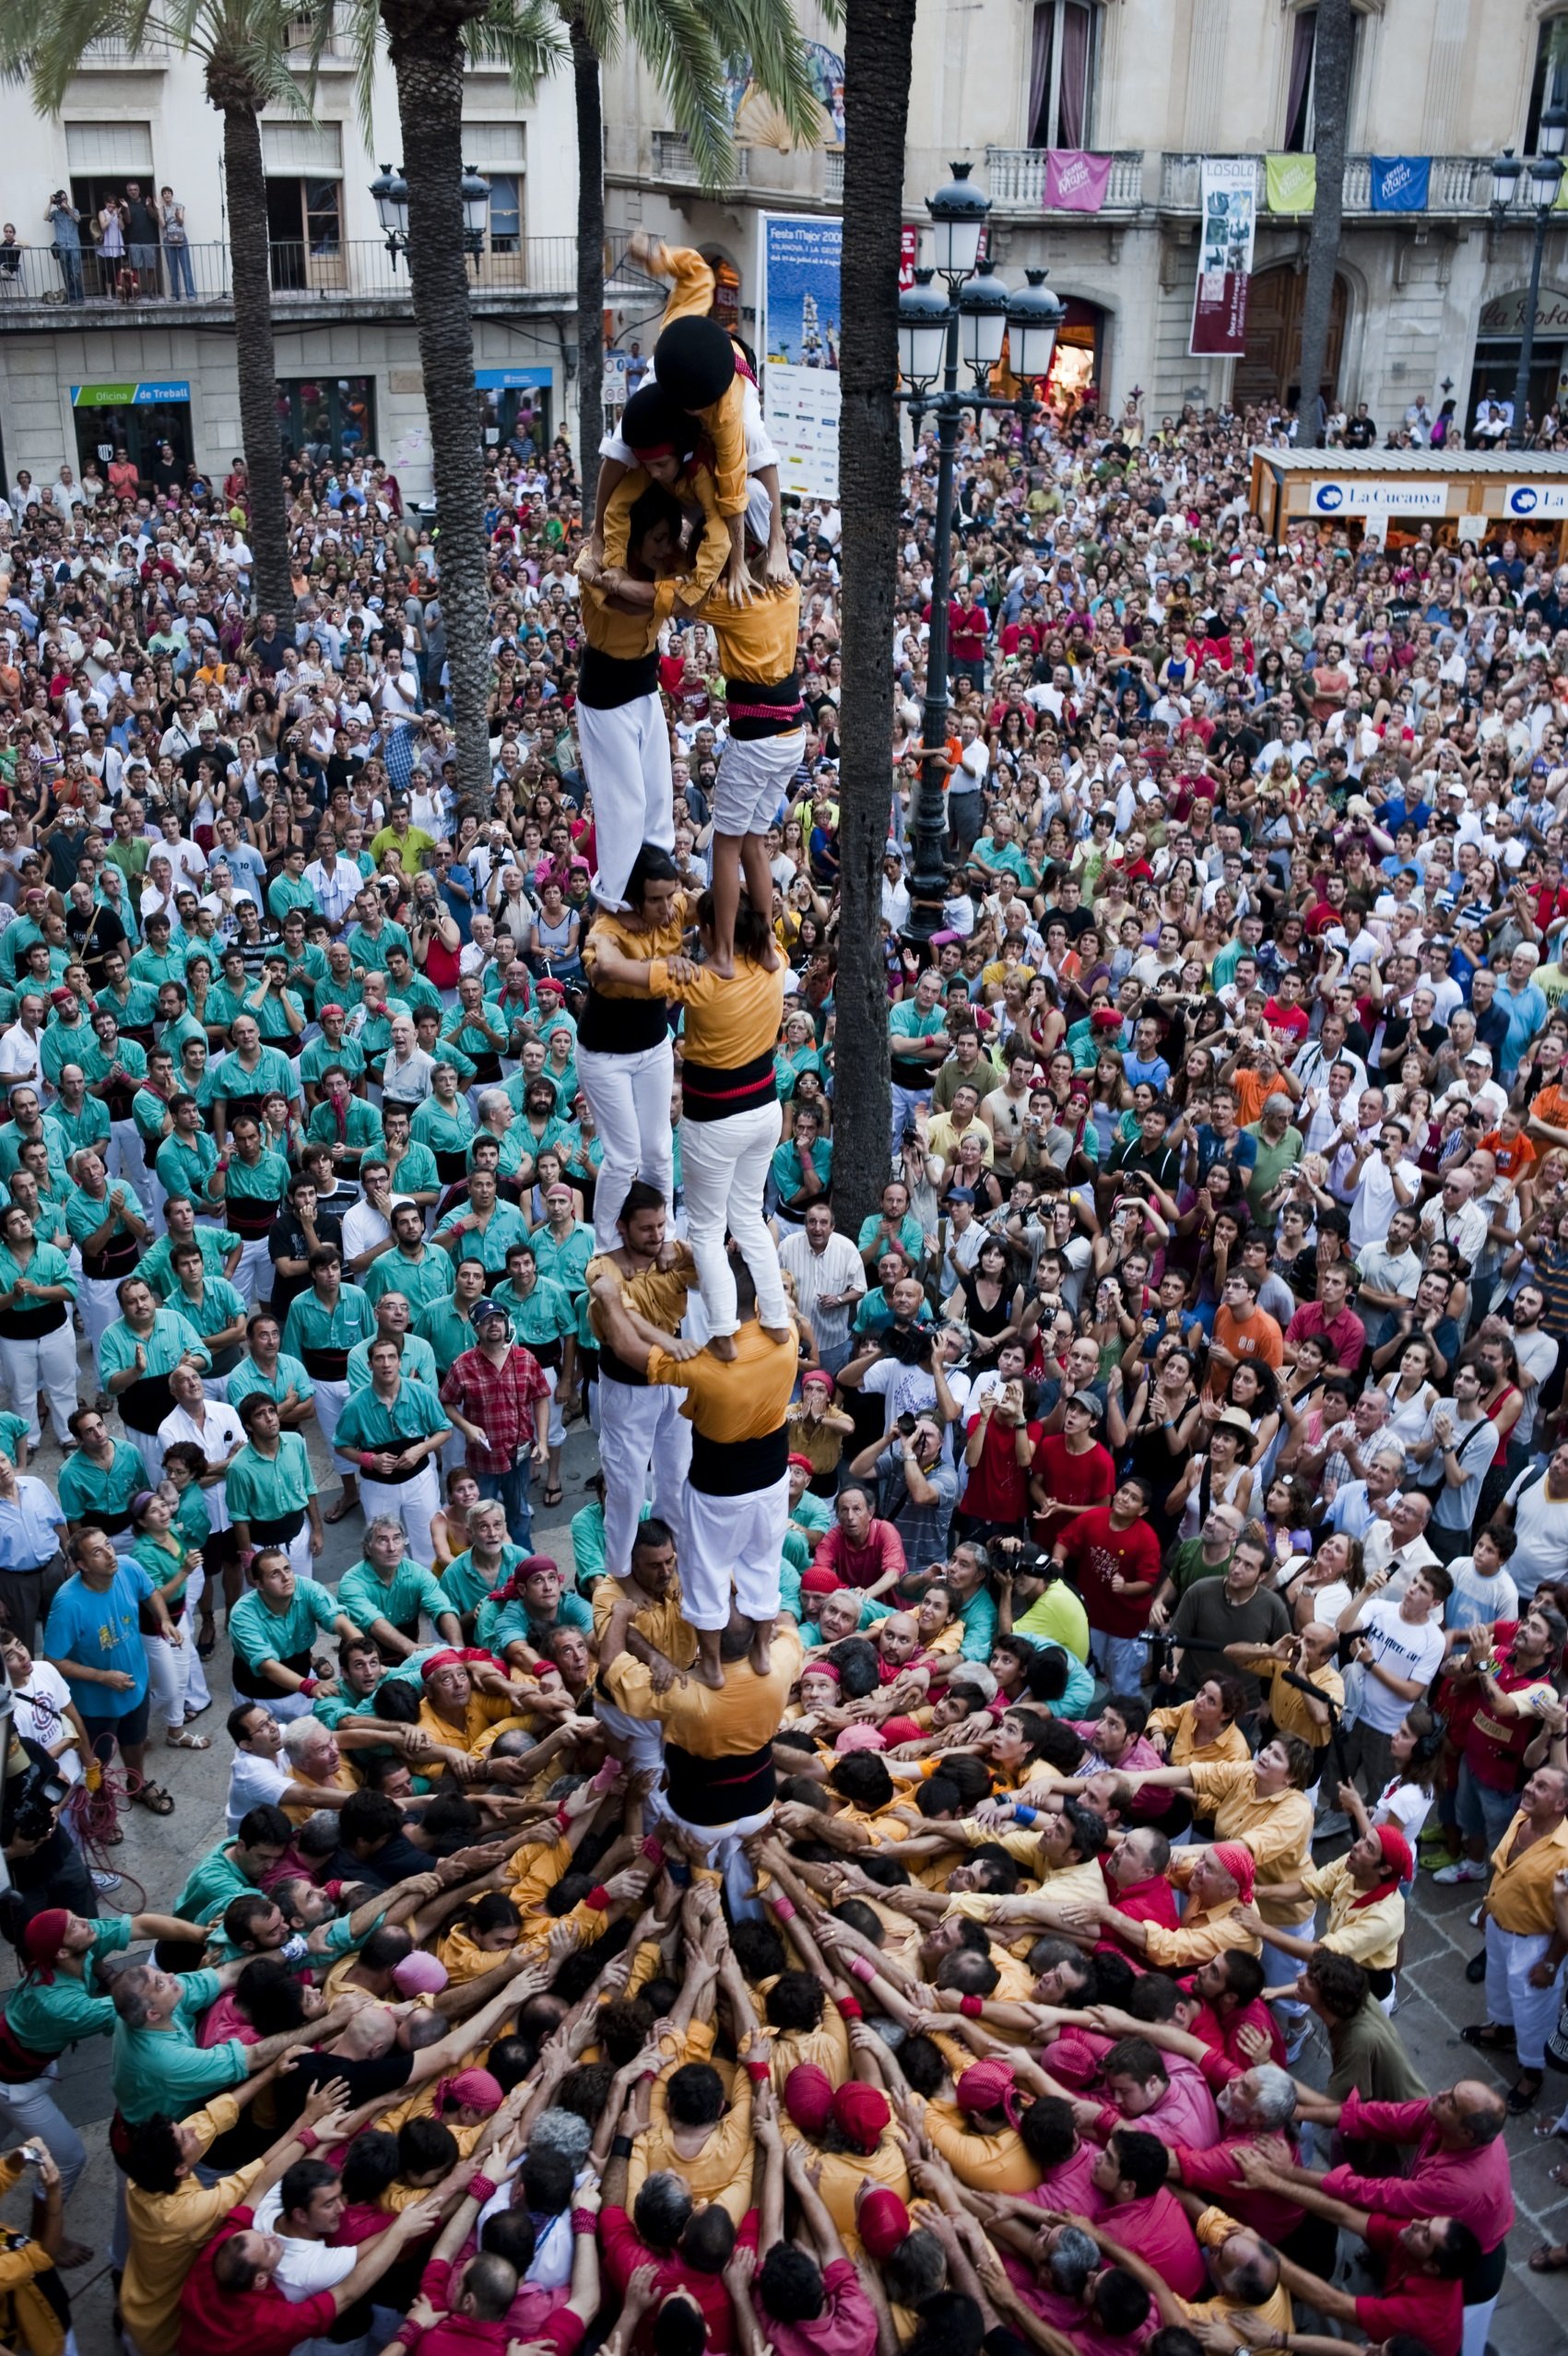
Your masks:
{"label": "whole leftmost palm tree, trunk and green fronds", "polygon": [[271,339],[271,257],[266,240],[264,106],[309,115],[288,71],[290,0],[9,0],[0,16],[0,71],[26,73],[42,113],[59,113],[66,85],[94,40],[130,52],[165,40],[203,61],[207,104],[224,118],[233,342],[241,384],[241,441],[250,474],[252,587],[262,610],[295,613],[278,431],[278,370]]}

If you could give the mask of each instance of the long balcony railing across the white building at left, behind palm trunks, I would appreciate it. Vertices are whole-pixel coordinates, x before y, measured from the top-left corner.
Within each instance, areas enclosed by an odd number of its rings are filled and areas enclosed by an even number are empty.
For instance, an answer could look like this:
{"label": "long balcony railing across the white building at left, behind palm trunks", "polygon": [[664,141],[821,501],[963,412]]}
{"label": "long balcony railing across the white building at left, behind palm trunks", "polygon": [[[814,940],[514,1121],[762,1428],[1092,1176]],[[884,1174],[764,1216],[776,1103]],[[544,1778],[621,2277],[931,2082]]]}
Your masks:
{"label": "long balcony railing across the white building at left, behind palm trunks", "polygon": [[[622,238],[613,236],[615,250]],[[182,313],[231,313],[233,273],[229,247],[203,243],[186,247],[191,262],[193,294],[174,294],[167,252],[160,254],[156,283],[144,278],[134,302],[120,299],[118,280],[97,252],[80,257],[83,302],[66,302],[66,283],[52,245],[26,245],[21,269],[14,278],[0,276],[0,332],[40,327],[116,327],[156,318],[167,325]],[[578,287],[578,240],[575,238],[516,238],[509,252],[483,252],[469,264],[469,302],[479,316],[488,311],[542,311],[575,304]],[[611,278],[606,294],[632,292],[632,283]],[[380,238],[344,238],[337,245],[304,245],[302,240],[276,243],[271,247],[271,302],[274,316],[299,323],[311,311],[363,311],[380,316],[389,309],[408,309],[408,266],[394,262]]]}

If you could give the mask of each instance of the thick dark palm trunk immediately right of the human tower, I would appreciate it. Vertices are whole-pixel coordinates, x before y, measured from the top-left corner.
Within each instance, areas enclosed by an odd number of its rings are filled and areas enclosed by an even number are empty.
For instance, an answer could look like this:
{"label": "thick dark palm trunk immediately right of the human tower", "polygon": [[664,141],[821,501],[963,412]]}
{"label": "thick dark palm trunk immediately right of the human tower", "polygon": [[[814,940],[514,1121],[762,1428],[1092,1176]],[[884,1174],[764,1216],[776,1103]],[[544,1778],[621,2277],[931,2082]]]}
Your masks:
{"label": "thick dark palm trunk immediately right of the human tower", "polygon": [[882,848],[891,801],[889,688],[898,577],[898,250],[915,0],[856,0],[844,45],[844,236],[839,276],[839,1086],[832,1206],[849,1235],[882,1197],[889,1164]]}

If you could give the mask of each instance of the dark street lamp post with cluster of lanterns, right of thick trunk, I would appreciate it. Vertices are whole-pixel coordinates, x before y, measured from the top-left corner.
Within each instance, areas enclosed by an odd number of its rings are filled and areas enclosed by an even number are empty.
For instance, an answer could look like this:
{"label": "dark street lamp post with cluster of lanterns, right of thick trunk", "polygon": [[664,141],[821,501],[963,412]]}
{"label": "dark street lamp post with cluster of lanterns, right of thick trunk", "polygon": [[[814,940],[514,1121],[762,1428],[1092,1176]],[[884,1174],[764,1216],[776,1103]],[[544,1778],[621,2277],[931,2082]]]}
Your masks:
{"label": "dark street lamp post with cluster of lanterns, right of thick trunk", "polygon": [[[929,949],[941,931],[948,895],[943,848],[948,813],[948,589],[953,573],[953,474],[964,410],[1019,410],[1023,448],[1035,415],[1030,384],[1047,377],[1056,330],[1066,306],[1045,285],[1045,271],[1028,271],[1028,285],[1004,287],[990,262],[979,259],[990,198],[969,184],[969,165],[953,165],[953,181],[927,200],[936,269],[915,271],[915,285],[898,297],[898,370],[915,434],[927,410],[936,412],[936,542],[931,549],[931,631],[927,638],[924,740],[915,794],[915,874],[910,876],[908,940]],[[946,294],[931,283],[946,283]],[[1009,365],[1021,384],[1016,401],[986,391],[1009,337]],[[974,391],[957,384],[960,356]],[[931,391],[941,377],[941,391]]]}

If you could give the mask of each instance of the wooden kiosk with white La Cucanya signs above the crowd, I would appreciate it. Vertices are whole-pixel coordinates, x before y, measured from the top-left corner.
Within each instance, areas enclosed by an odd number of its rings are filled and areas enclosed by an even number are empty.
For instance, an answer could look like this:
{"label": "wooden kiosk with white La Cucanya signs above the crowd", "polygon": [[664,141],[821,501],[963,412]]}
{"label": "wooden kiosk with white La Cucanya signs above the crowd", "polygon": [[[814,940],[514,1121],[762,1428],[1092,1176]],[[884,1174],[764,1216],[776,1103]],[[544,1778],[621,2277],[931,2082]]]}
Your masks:
{"label": "wooden kiosk with white La Cucanya signs above the crowd", "polygon": [[1361,540],[1377,521],[1394,547],[1431,525],[1445,544],[1511,532],[1568,561],[1568,452],[1254,448],[1250,507],[1273,542],[1304,525]]}

